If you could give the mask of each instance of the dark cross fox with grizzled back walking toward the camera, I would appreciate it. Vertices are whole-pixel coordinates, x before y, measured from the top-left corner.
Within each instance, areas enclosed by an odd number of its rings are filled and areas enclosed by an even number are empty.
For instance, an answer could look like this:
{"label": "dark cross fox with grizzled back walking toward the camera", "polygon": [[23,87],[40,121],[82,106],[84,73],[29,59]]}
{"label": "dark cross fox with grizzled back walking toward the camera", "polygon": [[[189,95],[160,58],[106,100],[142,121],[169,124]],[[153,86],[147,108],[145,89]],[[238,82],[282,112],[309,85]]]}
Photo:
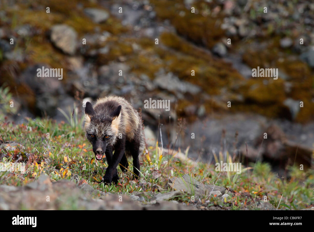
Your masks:
{"label": "dark cross fox with grizzled back walking toward the camera", "polygon": [[[105,153],[108,168],[102,178],[105,184],[118,183],[117,166],[122,172],[128,168],[127,157],[133,157],[133,173],[139,176],[139,158],[145,147],[142,118],[123,97],[100,98],[94,107],[86,102],[86,138],[93,146],[96,160]],[[114,151],[114,154],[113,154]]]}

